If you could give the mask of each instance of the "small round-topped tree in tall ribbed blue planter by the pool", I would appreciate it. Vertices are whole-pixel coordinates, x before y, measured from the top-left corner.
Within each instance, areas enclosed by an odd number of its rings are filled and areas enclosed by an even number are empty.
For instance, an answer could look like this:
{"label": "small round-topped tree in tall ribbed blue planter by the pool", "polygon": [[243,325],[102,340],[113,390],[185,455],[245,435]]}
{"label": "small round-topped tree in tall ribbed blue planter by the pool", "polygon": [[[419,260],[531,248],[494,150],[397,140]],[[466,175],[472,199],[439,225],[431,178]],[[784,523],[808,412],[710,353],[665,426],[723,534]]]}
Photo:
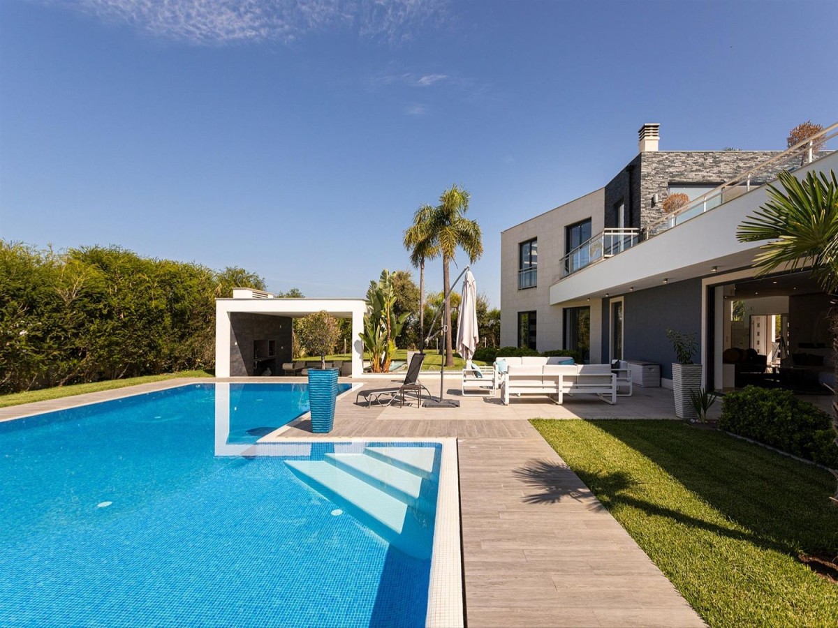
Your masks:
{"label": "small round-topped tree in tall ribbed blue planter by the pool", "polygon": [[325,311],[304,317],[297,325],[297,336],[308,353],[320,355],[320,368],[308,369],[308,405],[311,408],[312,431],[332,431],[334,404],[338,398],[338,368],[326,368],[326,354],[334,351],[340,339],[338,320]]}

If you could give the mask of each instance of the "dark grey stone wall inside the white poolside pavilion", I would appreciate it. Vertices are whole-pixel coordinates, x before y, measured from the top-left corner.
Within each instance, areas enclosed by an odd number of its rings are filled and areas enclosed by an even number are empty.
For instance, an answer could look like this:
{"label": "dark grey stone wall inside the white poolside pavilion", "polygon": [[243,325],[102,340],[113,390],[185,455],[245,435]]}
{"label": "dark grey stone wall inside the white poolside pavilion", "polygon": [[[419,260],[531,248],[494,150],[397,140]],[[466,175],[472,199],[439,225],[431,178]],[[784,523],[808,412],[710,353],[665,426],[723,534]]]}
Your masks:
{"label": "dark grey stone wall inside the white poolside pavilion", "polygon": [[[260,375],[270,368],[273,375],[282,374],[282,363],[291,362],[291,319],[267,314],[230,313],[230,377]],[[253,341],[277,341],[277,358],[260,363],[260,373],[253,373]]]}

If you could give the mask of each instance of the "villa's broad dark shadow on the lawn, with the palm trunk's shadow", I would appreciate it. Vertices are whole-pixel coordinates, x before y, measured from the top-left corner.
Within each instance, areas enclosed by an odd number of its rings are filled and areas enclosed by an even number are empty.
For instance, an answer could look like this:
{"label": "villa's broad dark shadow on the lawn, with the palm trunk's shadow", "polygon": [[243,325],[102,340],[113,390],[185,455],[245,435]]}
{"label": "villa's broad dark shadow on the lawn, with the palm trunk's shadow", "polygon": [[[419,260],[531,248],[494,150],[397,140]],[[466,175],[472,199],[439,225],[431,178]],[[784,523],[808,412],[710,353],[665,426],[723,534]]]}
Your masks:
{"label": "villa's broad dark shadow on the lawn, with the palm trunk's shadow", "polygon": [[690,525],[717,528],[726,536],[747,538],[795,557],[800,552],[838,553],[835,508],[828,499],[833,486],[827,471],[722,432],[696,430],[682,423],[590,423],[660,466],[687,490],[747,528],[749,534],[691,521],[683,513],[624,495],[619,486],[608,486],[614,481],[608,477],[590,478],[592,488],[603,482],[604,493],[618,489],[610,497],[614,504],[622,502]]}

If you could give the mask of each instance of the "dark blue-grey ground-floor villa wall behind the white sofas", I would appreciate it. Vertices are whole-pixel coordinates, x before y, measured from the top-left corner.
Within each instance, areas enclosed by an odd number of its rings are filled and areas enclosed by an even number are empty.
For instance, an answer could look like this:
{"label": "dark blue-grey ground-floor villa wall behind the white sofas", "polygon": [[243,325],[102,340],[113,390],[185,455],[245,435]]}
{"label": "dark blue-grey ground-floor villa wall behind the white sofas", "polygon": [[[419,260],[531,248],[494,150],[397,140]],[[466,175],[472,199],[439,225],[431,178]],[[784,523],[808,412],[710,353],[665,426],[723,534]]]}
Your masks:
{"label": "dark blue-grey ground-floor villa wall behind the white sofas", "polygon": [[[660,377],[671,379],[675,352],[666,330],[695,332],[701,342],[701,279],[629,292],[624,297],[623,355],[629,360],[658,363]],[[603,339],[608,342],[608,327],[604,332]],[[700,360],[701,354],[696,353],[693,361]]]}

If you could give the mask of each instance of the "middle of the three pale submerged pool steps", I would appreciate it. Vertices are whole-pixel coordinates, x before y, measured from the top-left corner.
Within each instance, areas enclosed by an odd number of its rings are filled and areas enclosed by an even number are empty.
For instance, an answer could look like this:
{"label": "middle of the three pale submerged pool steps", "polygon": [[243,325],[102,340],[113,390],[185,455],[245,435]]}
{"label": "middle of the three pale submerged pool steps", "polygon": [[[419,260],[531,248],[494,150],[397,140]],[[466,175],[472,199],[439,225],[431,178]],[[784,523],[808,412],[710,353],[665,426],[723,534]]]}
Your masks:
{"label": "middle of the three pale submerged pool steps", "polygon": [[[418,476],[411,471],[405,471],[391,462],[382,461],[366,453],[359,454],[326,454],[325,460],[365,481],[371,486],[384,491],[392,497],[410,506],[415,506],[422,512],[432,513],[433,504],[422,497],[422,482],[430,480]],[[426,488],[427,492],[427,488]]]}

